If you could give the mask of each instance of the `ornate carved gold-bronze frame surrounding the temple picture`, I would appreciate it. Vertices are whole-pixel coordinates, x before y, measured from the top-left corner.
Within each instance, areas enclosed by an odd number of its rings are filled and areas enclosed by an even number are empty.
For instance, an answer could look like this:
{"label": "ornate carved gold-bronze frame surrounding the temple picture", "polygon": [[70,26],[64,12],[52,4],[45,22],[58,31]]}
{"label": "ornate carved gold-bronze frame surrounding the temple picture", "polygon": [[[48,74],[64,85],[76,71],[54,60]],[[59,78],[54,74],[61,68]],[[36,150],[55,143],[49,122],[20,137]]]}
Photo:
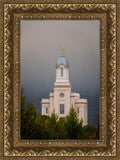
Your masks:
{"label": "ornate carved gold-bronze frame surrounding the temple picture", "polygon": [[[1,0],[2,159],[119,159],[120,1]],[[100,139],[20,139],[20,20],[100,20]]]}

